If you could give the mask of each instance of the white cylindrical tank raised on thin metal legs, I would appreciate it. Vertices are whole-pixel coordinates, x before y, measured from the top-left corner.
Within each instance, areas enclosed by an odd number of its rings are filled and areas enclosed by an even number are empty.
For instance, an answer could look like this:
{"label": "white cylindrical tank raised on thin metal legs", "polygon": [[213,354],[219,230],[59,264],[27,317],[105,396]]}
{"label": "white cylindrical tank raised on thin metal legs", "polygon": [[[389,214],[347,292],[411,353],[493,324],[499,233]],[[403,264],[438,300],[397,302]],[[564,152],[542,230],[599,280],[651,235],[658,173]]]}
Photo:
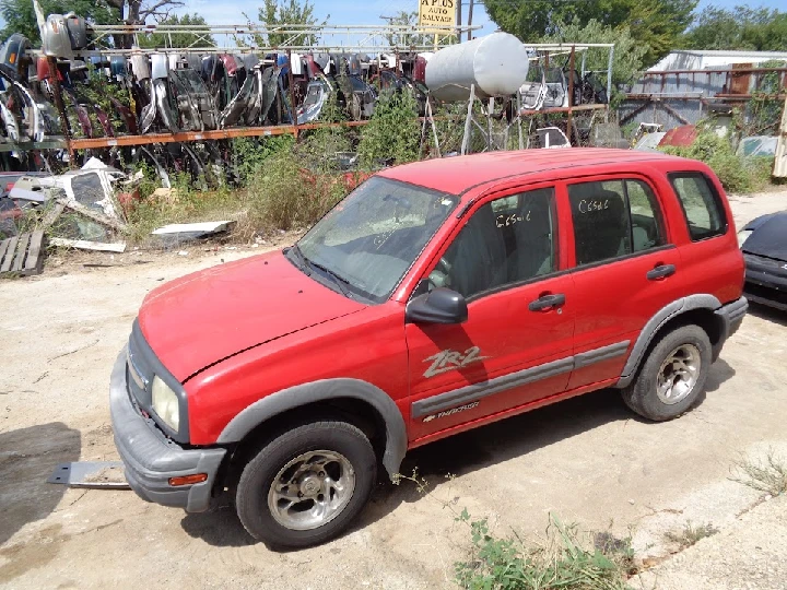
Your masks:
{"label": "white cylindrical tank raised on thin metal legs", "polygon": [[492,33],[441,49],[426,63],[426,86],[446,103],[467,101],[470,86],[478,98],[510,96],[527,79],[528,52],[508,33]]}

